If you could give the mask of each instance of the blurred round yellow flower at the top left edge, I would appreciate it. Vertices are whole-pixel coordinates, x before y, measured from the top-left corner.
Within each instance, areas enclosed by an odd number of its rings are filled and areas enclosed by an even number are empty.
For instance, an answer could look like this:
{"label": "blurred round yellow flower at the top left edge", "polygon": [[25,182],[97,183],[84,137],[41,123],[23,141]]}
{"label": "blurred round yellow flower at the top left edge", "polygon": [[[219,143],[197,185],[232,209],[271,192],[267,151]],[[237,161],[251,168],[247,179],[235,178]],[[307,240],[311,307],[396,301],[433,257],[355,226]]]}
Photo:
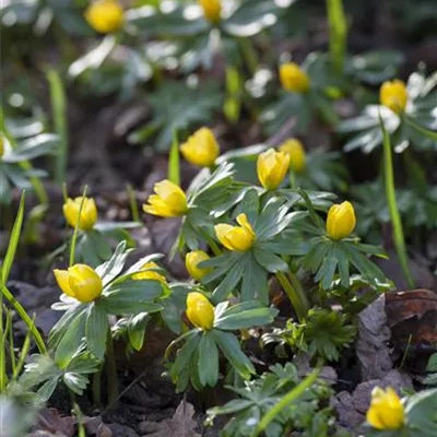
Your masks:
{"label": "blurred round yellow flower at the top left edge", "polygon": [[102,34],[118,31],[123,23],[123,10],[117,0],[96,0],[85,11],[88,24]]}

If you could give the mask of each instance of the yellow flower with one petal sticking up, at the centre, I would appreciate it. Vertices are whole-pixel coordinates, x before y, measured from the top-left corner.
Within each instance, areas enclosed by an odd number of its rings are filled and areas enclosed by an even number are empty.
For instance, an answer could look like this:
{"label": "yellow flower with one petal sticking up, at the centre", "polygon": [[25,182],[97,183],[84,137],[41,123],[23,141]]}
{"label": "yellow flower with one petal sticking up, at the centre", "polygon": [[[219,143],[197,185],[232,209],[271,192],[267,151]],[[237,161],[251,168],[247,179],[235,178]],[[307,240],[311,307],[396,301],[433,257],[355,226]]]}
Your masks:
{"label": "yellow flower with one petal sticking up, at the centre", "polygon": [[224,223],[214,226],[215,235],[227,249],[245,252],[253,246],[256,235],[246,214],[239,214],[237,223],[239,226]]}

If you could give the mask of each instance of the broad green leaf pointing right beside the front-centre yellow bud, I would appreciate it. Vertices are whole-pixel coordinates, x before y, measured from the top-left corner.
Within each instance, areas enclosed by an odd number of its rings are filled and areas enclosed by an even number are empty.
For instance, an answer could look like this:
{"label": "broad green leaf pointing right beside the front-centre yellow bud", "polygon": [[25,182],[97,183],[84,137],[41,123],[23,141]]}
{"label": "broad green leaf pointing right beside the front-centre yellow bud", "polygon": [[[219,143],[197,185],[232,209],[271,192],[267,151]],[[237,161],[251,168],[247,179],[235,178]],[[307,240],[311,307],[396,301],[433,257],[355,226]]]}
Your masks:
{"label": "broad green leaf pointing right beside the front-centre yellow bud", "polygon": [[259,302],[245,302],[225,310],[214,321],[214,328],[225,331],[248,329],[271,323],[277,310],[268,308]]}

